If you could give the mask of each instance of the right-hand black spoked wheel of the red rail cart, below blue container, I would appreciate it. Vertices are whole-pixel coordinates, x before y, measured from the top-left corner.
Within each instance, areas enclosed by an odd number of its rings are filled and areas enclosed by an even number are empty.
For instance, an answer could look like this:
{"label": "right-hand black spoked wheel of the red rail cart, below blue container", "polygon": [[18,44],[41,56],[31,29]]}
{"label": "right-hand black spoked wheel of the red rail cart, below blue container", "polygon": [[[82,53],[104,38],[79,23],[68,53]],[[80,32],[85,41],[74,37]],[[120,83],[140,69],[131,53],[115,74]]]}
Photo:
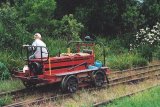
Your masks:
{"label": "right-hand black spoked wheel of the red rail cart, below blue container", "polygon": [[95,72],[93,75],[93,85],[95,87],[102,87],[105,81],[105,74],[101,71]]}

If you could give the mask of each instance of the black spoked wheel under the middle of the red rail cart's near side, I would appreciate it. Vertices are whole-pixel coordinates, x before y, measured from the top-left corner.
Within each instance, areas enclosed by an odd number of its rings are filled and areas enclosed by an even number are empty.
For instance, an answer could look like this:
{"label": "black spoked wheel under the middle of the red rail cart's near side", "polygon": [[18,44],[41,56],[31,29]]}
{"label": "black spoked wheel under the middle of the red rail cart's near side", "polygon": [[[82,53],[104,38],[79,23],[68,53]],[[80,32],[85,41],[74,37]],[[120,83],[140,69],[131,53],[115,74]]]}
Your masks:
{"label": "black spoked wheel under the middle of the red rail cart's near side", "polygon": [[63,92],[74,93],[78,89],[78,79],[74,75],[64,77],[61,86]]}

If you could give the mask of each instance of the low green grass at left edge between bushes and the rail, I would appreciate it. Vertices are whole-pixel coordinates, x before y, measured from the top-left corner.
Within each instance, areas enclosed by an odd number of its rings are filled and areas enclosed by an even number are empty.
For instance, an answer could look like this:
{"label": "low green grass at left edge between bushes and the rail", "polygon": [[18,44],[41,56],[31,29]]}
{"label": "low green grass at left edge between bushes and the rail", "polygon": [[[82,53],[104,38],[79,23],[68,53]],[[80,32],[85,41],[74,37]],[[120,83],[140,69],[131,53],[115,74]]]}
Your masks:
{"label": "low green grass at left edge between bushes and the rail", "polygon": [[0,81],[0,92],[6,92],[16,89],[22,89],[24,85],[20,80],[4,80]]}

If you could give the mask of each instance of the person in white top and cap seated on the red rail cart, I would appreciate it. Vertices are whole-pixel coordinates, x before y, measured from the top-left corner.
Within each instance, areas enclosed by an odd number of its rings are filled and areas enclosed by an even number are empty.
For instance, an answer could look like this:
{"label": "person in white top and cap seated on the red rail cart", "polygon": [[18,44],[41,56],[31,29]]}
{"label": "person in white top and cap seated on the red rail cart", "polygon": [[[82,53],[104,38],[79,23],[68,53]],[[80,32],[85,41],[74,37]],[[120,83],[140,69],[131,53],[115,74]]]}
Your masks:
{"label": "person in white top and cap seated on the red rail cart", "polygon": [[[42,41],[41,34],[36,33],[34,35],[34,42],[32,43],[33,49],[35,50],[34,54],[29,57],[29,59],[34,58],[46,58],[48,57],[48,52],[46,49],[46,44]],[[37,46],[37,47],[36,47]],[[41,48],[42,46],[42,48]],[[42,52],[42,53],[41,53]],[[42,56],[41,56],[42,55]]]}

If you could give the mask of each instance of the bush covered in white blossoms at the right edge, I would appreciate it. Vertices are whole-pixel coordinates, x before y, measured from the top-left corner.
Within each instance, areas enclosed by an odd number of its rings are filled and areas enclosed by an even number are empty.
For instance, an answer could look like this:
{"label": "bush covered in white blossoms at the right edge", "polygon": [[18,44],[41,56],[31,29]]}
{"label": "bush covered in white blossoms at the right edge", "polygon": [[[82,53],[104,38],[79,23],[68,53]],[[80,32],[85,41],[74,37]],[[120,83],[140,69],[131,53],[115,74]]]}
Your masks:
{"label": "bush covered in white blossoms at the right edge", "polygon": [[152,29],[148,27],[140,29],[134,38],[134,44],[130,44],[131,50],[139,48],[142,56],[151,61],[153,52],[160,42],[160,24],[157,23]]}

